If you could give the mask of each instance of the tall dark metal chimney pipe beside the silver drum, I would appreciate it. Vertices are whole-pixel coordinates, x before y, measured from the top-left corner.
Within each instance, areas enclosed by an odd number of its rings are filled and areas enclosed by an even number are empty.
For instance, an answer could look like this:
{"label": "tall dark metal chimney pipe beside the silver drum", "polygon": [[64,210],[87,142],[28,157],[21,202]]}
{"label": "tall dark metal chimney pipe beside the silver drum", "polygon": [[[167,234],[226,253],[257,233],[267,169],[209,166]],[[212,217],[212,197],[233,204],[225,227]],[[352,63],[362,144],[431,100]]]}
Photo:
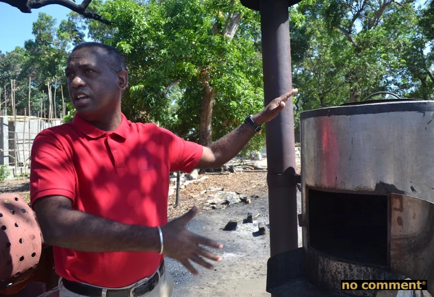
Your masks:
{"label": "tall dark metal chimney pipe beside the silver drum", "polygon": [[[265,105],[292,89],[288,0],[260,0]],[[266,123],[271,257],[298,248],[292,100]]]}

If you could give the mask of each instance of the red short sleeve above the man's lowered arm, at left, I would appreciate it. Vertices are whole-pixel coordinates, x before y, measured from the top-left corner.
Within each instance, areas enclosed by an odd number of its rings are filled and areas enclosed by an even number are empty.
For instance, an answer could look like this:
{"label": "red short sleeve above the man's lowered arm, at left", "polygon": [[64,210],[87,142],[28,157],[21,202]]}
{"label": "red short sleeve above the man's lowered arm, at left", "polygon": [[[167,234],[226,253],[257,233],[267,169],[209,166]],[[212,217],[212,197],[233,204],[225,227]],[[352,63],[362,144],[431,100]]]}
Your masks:
{"label": "red short sleeve above the man's lowered arm, at left", "polygon": [[55,134],[44,130],[31,147],[30,200],[62,195],[75,201],[76,174],[70,156]]}

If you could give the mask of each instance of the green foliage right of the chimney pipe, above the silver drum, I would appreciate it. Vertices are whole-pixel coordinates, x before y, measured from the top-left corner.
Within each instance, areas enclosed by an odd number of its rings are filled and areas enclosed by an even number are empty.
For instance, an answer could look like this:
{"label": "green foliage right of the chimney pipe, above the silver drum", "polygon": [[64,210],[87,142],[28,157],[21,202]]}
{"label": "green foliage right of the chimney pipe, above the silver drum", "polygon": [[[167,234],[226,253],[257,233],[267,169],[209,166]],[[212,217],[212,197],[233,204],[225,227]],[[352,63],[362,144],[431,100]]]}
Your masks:
{"label": "green foliage right of the chimney pipe, above the silver drum", "polygon": [[298,5],[305,19],[292,25],[292,36],[308,47],[292,55],[294,86],[301,90],[294,100],[296,117],[378,91],[433,99],[431,4],[327,0]]}

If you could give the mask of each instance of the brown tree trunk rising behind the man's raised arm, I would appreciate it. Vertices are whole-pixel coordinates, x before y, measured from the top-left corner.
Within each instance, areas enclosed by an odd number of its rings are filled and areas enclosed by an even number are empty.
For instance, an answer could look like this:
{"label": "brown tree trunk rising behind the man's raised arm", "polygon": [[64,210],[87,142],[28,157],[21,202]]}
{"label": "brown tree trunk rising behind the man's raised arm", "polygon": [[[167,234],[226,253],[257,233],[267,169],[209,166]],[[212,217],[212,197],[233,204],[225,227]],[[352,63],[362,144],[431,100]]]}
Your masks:
{"label": "brown tree trunk rising behind the man's raised arm", "polygon": [[202,97],[199,144],[209,146],[212,142],[212,107],[214,106],[216,93],[207,80],[201,80],[201,82],[205,90]]}

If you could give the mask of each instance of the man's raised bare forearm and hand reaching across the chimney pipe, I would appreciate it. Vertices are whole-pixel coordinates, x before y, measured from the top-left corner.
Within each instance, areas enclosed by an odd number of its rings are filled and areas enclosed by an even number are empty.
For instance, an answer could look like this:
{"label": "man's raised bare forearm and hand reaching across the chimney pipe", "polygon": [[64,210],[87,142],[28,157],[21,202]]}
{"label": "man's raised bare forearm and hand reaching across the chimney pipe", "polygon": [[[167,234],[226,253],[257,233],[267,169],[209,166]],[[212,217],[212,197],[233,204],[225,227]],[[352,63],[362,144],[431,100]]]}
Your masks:
{"label": "man's raised bare forearm and hand reaching across the chimney pipe", "polygon": [[[298,90],[295,88],[285,95],[272,100],[266,108],[253,115],[253,121],[259,126],[267,121],[271,121],[285,108],[285,102],[297,92]],[[242,150],[253,135],[255,135],[255,131],[248,124],[242,123],[238,128],[218,139],[218,141],[212,143],[209,147],[203,147],[203,154],[196,168],[216,168],[227,163]]]}

